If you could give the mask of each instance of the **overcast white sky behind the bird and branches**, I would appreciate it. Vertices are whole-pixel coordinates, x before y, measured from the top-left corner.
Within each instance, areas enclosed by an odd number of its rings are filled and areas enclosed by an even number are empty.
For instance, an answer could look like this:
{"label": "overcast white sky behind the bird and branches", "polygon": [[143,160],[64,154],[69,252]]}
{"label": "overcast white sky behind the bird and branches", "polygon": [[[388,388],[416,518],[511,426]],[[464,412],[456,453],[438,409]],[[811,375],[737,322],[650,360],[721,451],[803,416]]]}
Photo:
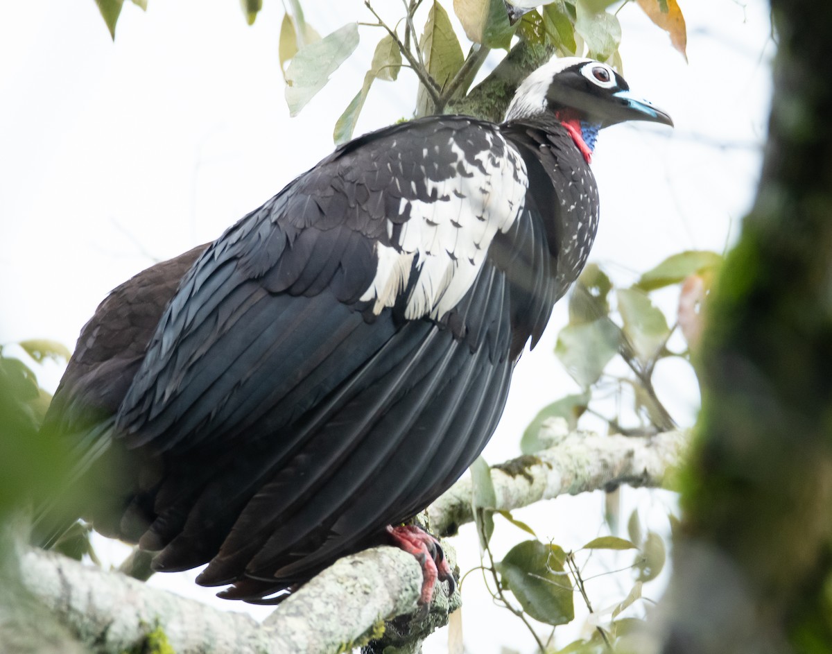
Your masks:
{"label": "overcast white sky behind the bird and branches", "polygon": [[[363,27],[344,70],[290,119],[277,61],[280,2],[265,0],[254,27],[245,25],[239,4],[150,0],[142,13],[126,2],[113,43],[92,0],[2,3],[0,343],[44,337],[72,348],[111,288],[154,260],[214,239],[329,154],[334,121],[358,91],[382,33]],[[689,64],[635,3],[619,14],[627,81],[676,121],[674,133],[638,124],[599,138],[593,168],[602,223],[592,258],[622,282],[680,250],[723,250],[750,205],[759,171],[756,146],[765,138],[774,52],[767,3],[680,4]],[[304,5],[321,34],[369,20],[358,0]],[[395,11],[399,2],[377,5]],[[407,72],[401,79],[410,83],[376,82],[359,132],[409,115],[415,85]],[[556,312],[542,344],[518,366],[503,423],[486,451],[491,462],[516,455],[537,409],[576,390],[552,354],[563,315]],[[53,387],[60,372],[47,366],[44,383]],[[696,411],[690,375],[683,366],[659,372],[667,404],[690,423]],[[661,513],[664,500],[651,497],[644,501]],[[558,500],[528,519],[537,520],[542,535],[578,547],[596,535],[601,508],[597,499]],[[476,562],[471,543],[461,546],[463,567]],[[201,592],[180,577],[154,579]],[[503,645],[532,651],[522,630],[499,622],[502,614],[488,598],[469,594],[470,652],[499,652]],[[442,637],[432,647],[441,652]]]}

